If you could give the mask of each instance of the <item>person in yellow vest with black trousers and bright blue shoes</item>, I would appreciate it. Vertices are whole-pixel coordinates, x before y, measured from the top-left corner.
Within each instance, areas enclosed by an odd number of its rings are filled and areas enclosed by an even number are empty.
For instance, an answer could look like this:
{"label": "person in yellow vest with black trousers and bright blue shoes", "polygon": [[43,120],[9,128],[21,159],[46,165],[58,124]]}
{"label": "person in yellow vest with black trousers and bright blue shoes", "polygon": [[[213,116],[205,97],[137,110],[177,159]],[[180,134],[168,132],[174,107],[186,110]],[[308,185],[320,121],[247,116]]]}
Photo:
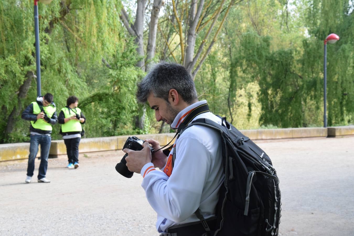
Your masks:
{"label": "person in yellow vest with black trousers and bright blue shoes", "polygon": [[60,113],[58,122],[62,124],[60,133],[63,135],[64,143],[67,148],[68,168],[79,167],[79,144],[84,135],[81,124],[86,122],[84,114],[78,108],[79,99],[71,96],[67,99],[67,106]]}

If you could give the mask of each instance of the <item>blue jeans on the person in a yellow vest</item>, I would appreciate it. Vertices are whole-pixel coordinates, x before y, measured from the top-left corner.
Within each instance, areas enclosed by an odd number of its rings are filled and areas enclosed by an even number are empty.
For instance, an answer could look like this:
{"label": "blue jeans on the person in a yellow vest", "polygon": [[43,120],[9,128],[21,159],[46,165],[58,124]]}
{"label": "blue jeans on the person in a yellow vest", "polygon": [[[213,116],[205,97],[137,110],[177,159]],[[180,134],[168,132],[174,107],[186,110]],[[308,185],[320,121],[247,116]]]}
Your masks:
{"label": "blue jeans on the person in a yellow vest", "polygon": [[51,144],[50,135],[31,134],[31,141],[29,145],[29,157],[27,175],[33,176],[34,160],[38,152],[38,145],[41,145],[41,163],[39,165],[38,179],[44,178],[48,167],[48,155]]}

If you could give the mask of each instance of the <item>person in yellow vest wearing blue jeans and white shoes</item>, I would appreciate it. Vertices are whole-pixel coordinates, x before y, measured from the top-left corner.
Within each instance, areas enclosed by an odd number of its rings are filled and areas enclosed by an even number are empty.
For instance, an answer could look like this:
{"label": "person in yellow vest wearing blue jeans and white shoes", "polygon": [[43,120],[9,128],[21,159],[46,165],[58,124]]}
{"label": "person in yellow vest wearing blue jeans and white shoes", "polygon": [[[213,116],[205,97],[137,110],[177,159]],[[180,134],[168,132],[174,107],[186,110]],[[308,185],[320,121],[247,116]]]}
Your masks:
{"label": "person in yellow vest wearing blue jeans and white shoes", "polygon": [[53,95],[47,93],[44,97],[38,97],[23,111],[21,118],[29,120],[31,125],[30,146],[25,183],[30,183],[34,171],[34,161],[38,153],[38,145],[41,145],[41,163],[38,170],[38,182],[50,183],[45,175],[48,167],[48,156],[51,144],[52,125],[58,122]]}

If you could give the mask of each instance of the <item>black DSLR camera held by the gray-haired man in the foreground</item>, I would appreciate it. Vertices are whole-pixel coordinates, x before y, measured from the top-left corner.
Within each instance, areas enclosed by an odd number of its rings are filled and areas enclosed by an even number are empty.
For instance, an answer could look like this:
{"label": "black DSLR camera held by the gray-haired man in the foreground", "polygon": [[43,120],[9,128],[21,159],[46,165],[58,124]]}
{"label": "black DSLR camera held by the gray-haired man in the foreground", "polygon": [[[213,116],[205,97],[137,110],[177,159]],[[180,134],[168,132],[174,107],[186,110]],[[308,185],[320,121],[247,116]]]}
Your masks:
{"label": "black DSLR camera held by the gray-haired man in the foreground", "polygon": [[[142,140],[142,139],[139,139],[135,136],[133,137],[129,137],[126,141],[125,141],[125,144],[123,146],[123,149],[125,148],[129,148],[131,150],[134,150],[134,151],[140,151],[143,149],[143,143],[145,141]],[[150,151],[153,152],[155,149],[153,149],[151,146],[150,146]],[[128,167],[126,166],[127,164],[127,161],[125,160],[125,157],[127,157],[128,154],[126,153],[122,160],[120,160],[120,162],[115,166],[115,170],[120,173],[121,175],[123,175],[124,177],[126,178],[131,178],[133,176],[133,173],[134,172],[131,172],[129,171]]]}

